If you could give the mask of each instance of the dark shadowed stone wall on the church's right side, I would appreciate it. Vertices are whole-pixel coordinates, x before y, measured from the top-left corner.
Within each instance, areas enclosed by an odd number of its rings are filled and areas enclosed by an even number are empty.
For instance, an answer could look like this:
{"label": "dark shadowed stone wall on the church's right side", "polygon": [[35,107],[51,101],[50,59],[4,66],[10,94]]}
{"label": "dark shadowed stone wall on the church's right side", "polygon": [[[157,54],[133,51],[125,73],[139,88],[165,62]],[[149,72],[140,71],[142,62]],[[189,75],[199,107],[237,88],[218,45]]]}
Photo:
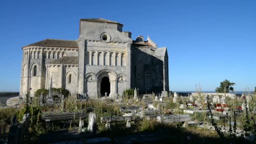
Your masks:
{"label": "dark shadowed stone wall on the church's right side", "polygon": [[132,74],[133,88],[141,93],[161,93],[163,91],[163,61],[152,56],[151,49],[133,48]]}

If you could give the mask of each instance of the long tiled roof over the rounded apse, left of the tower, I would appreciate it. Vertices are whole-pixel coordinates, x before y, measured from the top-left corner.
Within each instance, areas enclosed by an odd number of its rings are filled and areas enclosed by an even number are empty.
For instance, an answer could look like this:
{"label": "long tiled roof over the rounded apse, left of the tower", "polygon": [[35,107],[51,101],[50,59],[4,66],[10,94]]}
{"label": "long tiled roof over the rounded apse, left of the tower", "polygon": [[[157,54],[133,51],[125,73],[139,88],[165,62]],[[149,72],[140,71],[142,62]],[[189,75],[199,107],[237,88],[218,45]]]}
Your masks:
{"label": "long tiled roof over the rounded apse, left of the tower", "polygon": [[78,44],[75,40],[56,40],[45,39],[30,45],[26,45],[22,48],[29,46],[41,46],[41,47],[57,47],[57,48],[78,48]]}

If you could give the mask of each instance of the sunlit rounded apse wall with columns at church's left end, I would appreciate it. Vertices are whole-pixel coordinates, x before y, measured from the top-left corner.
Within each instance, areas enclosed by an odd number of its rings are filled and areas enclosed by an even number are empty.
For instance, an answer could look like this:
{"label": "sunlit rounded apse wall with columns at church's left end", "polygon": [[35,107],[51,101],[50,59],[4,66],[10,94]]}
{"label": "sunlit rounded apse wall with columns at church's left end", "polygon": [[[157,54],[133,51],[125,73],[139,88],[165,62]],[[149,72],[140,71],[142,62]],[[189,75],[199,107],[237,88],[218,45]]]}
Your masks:
{"label": "sunlit rounded apse wall with columns at church's left end", "polygon": [[[34,96],[34,92],[40,88],[48,88],[46,80],[47,62],[54,61],[63,56],[78,56],[77,48],[41,48],[41,47],[25,47],[23,50],[23,57],[21,61],[21,83],[20,95],[24,96],[28,88],[32,88],[30,95]],[[34,69],[36,66],[36,75]],[[53,70],[54,71],[54,70]],[[53,72],[54,73],[54,72]],[[53,74],[56,75],[56,74]],[[56,81],[55,86],[60,84]]]}

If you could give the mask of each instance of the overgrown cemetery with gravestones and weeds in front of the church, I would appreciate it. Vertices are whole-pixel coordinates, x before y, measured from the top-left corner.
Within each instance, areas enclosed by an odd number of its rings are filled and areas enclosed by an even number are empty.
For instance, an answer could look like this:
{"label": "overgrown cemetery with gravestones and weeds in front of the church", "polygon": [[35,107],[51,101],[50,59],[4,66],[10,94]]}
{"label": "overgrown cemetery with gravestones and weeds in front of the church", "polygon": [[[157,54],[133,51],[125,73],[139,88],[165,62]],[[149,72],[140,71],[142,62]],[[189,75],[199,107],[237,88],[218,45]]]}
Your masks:
{"label": "overgrown cemetery with gravestones and weeds in front of the church", "polygon": [[181,97],[176,92],[140,95],[134,89],[132,96],[121,99],[88,99],[53,96],[52,89],[47,96],[27,94],[15,108],[5,108],[9,113],[1,111],[1,139],[10,143],[146,143],[170,141],[170,134],[173,139],[189,137],[184,141],[195,142],[203,138],[211,143],[250,142],[255,136],[253,94],[228,97],[198,91],[196,96]]}

